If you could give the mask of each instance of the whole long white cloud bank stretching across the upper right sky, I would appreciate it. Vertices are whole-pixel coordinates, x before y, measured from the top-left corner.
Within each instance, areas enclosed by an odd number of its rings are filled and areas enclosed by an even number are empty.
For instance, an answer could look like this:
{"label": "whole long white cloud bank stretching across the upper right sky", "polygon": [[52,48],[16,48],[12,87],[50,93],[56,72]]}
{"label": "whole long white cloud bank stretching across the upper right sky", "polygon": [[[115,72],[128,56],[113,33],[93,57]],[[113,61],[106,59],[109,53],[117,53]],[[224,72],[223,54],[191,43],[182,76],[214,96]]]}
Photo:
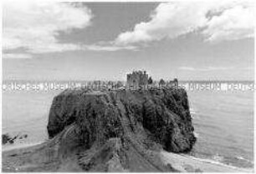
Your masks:
{"label": "whole long white cloud bank stretching across the upper right sky", "polygon": [[206,41],[253,37],[253,5],[250,1],[164,2],[156,7],[149,22],[122,32],[117,45],[175,38],[188,32],[202,32]]}

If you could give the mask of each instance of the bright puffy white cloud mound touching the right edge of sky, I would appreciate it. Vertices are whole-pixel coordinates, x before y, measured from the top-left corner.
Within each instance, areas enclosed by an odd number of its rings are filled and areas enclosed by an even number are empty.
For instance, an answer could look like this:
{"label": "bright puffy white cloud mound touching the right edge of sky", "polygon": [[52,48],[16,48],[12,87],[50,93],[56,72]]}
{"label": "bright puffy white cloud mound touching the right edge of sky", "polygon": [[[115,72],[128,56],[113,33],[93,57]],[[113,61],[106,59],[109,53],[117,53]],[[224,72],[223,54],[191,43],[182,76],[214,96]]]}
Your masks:
{"label": "bright puffy white cloud mound touching the right edge of sky", "polygon": [[253,7],[235,6],[212,17],[203,34],[210,42],[253,37],[253,21]]}

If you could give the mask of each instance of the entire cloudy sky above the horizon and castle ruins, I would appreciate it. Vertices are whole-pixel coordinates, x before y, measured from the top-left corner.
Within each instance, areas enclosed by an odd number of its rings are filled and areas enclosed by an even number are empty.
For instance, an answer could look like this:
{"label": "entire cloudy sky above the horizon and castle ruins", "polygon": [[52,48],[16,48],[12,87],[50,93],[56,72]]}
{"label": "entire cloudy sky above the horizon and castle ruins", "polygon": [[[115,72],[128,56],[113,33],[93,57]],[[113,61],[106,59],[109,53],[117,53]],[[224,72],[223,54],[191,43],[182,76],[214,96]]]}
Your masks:
{"label": "entire cloudy sky above the horizon and castle ruins", "polygon": [[250,80],[253,1],[3,3],[3,79]]}

